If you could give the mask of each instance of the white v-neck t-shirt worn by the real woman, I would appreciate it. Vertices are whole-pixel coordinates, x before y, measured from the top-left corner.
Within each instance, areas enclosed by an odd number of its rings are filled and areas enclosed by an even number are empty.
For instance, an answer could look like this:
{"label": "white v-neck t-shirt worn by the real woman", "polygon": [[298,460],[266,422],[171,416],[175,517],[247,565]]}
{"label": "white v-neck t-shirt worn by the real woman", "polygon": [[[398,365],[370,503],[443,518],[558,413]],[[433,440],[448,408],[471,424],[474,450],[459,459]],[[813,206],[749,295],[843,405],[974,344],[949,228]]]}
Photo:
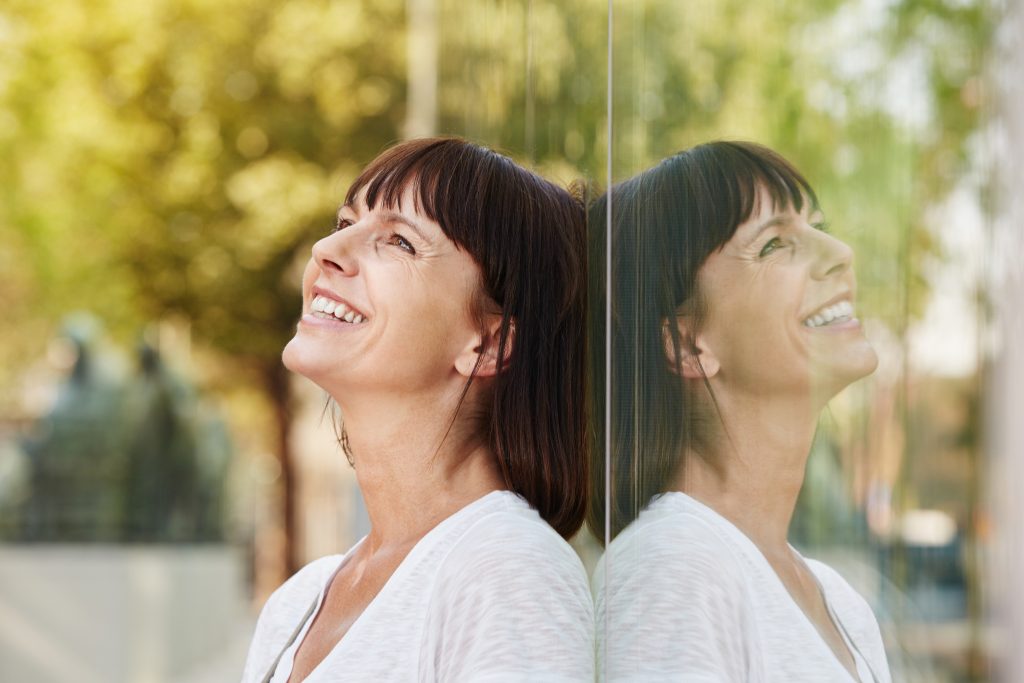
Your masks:
{"label": "white v-neck t-shirt worn by the real woman", "polygon": [[[270,596],[243,683],[263,679],[314,600],[319,610],[328,582],[353,550],[306,565]],[[288,680],[312,621],[282,656],[273,683]],[[494,492],[424,536],[305,680],[593,678],[594,613],[583,563],[525,501]]]}

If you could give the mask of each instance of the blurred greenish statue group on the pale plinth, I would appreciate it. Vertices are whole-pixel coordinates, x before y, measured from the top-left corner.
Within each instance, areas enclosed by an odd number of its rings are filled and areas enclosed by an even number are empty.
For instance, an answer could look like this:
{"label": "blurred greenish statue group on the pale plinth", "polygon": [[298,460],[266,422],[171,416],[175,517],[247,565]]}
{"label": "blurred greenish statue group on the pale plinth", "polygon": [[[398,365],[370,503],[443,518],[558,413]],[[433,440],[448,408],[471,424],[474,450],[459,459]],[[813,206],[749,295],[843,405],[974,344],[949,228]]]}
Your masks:
{"label": "blurred greenish statue group on the pale plinth", "polygon": [[127,380],[98,362],[99,323],[76,314],[62,337],[74,362],[48,415],[26,440],[29,541],[223,540],[231,443],[224,422],[172,373],[155,345],[138,347]]}

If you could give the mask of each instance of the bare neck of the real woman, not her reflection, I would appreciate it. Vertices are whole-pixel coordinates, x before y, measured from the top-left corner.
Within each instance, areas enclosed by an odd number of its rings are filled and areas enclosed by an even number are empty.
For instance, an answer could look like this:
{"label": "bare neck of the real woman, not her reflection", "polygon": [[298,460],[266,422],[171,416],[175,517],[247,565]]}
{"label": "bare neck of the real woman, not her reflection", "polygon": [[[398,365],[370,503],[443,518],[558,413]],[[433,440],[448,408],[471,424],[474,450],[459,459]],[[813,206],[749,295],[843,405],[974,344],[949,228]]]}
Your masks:
{"label": "bare neck of the real woman, not her reflection", "polygon": [[494,455],[447,401],[409,396],[343,407],[345,432],[370,517],[367,548],[415,544],[437,523],[493,490],[505,488]]}

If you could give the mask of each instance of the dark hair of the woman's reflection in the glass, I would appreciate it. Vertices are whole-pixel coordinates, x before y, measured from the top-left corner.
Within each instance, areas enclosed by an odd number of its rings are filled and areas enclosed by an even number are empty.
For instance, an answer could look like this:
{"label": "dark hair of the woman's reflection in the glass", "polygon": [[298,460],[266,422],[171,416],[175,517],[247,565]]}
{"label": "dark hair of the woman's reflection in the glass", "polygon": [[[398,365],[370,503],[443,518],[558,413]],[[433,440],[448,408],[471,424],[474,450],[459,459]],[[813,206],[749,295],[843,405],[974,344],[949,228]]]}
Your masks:
{"label": "dark hair of the woman's reflection in the glass", "polygon": [[[590,339],[594,437],[588,525],[610,541],[651,498],[680,476],[687,453],[707,454],[717,416],[708,378],[683,381],[685,355],[708,310],[697,272],[758,210],[759,193],[775,207],[801,211],[818,201],[785,159],[753,142],[700,144],[614,185],[590,208]],[[611,197],[611,287],[605,282],[608,196]],[[611,296],[611,348],[605,310]],[[686,315],[684,337],[675,325]],[[673,353],[666,352],[666,333]],[[604,354],[608,359],[606,377]],[[604,414],[610,386],[610,416]],[[698,392],[707,392],[707,398]],[[720,419],[718,424],[720,424]],[[605,500],[604,434],[610,429],[610,486]],[[710,455],[710,454],[707,454]],[[610,538],[605,539],[605,515]]]}

